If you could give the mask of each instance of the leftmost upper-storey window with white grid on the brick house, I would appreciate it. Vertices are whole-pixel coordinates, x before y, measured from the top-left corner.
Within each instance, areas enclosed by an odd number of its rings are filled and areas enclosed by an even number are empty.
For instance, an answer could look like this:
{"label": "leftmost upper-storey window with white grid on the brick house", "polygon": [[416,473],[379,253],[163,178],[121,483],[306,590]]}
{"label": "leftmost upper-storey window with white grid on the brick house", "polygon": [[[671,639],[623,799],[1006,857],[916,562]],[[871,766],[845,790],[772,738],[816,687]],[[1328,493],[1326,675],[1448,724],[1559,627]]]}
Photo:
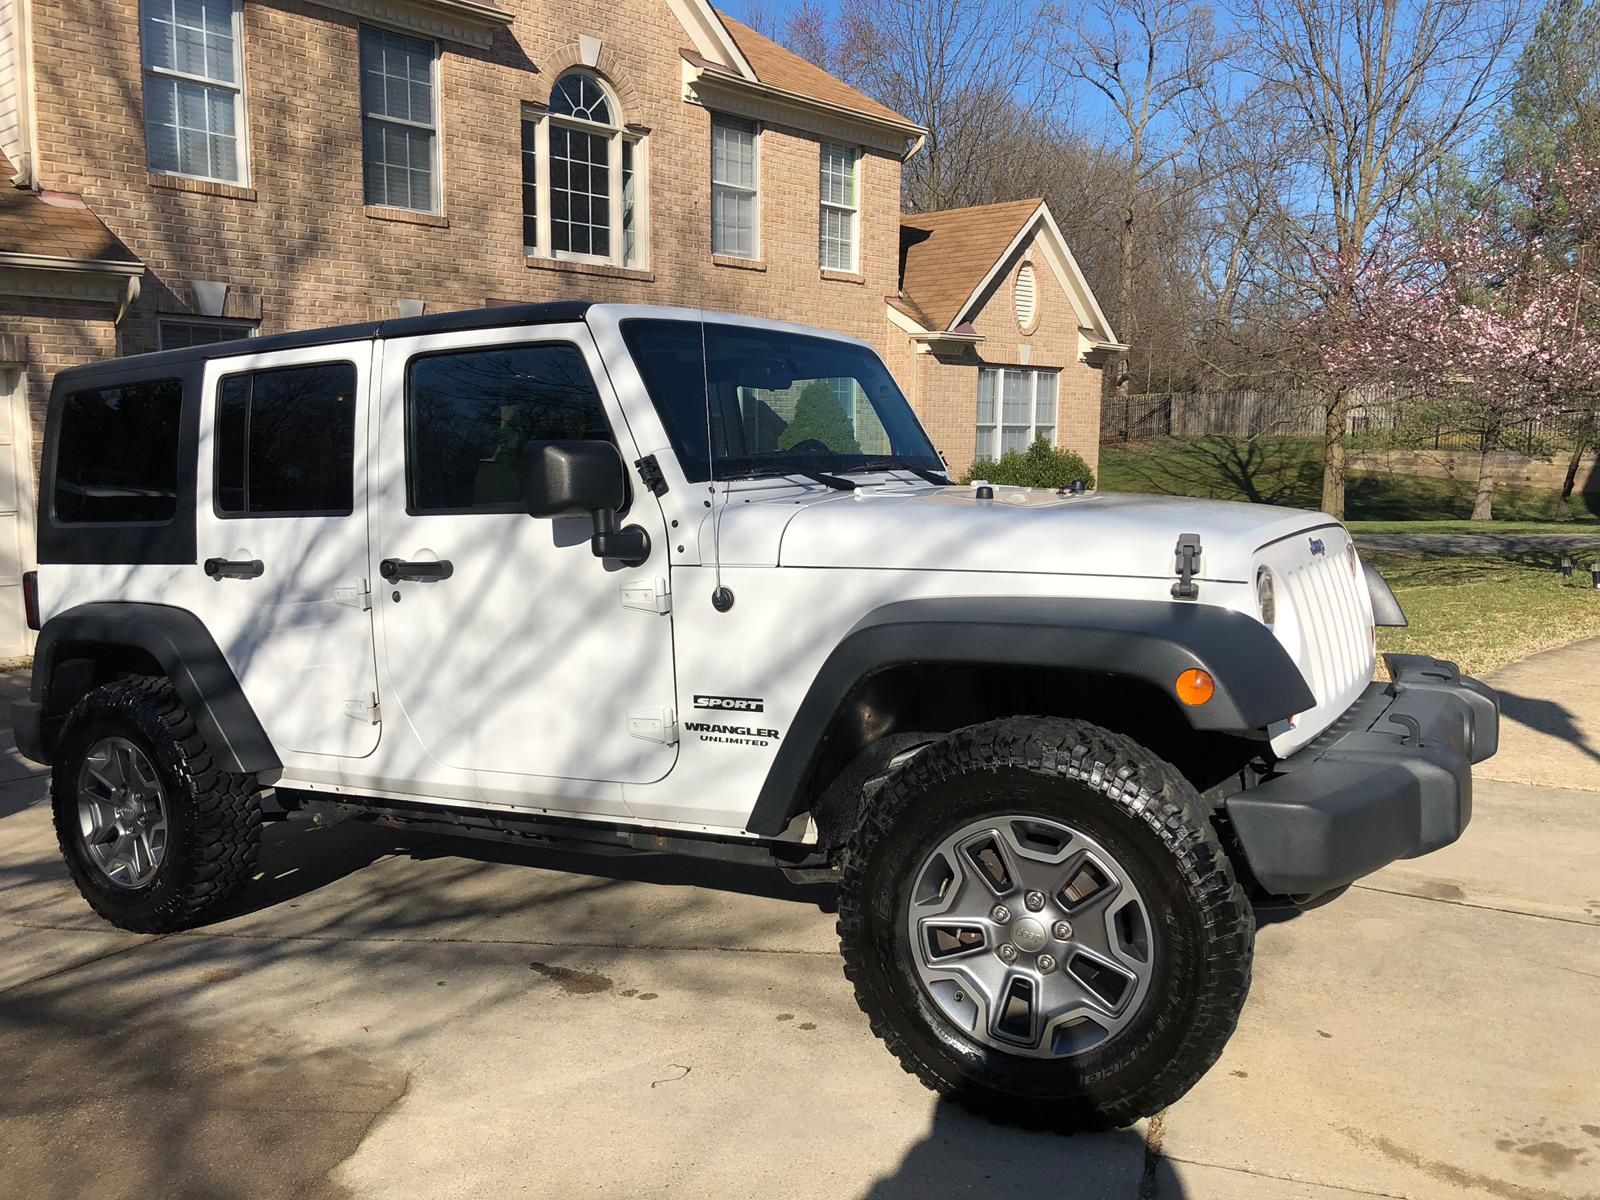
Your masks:
{"label": "leftmost upper-storey window with white grid on the brick house", "polygon": [[245,179],[238,0],[142,0],[144,142],[152,171]]}

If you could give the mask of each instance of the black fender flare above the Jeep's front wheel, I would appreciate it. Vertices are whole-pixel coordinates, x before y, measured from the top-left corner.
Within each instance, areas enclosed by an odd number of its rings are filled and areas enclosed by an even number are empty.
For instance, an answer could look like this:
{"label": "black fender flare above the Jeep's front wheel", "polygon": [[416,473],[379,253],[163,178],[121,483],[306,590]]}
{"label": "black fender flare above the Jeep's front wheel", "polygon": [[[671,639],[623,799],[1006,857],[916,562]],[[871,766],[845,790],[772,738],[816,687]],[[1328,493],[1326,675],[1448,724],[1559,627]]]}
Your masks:
{"label": "black fender flare above the Jeep's front wheel", "polygon": [[1294,659],[1245,613],[1162,600],[949,597],[901,600],[862,618],[822,662],[762,784],[746,832],[778,837],[805,811],[822,739],[869,675],[907,664],[1062,667],[1134,678],[1173,694],[1195,667],[1216,693],[1182,712],[1195,730],[1262,738],[1315,707]]}

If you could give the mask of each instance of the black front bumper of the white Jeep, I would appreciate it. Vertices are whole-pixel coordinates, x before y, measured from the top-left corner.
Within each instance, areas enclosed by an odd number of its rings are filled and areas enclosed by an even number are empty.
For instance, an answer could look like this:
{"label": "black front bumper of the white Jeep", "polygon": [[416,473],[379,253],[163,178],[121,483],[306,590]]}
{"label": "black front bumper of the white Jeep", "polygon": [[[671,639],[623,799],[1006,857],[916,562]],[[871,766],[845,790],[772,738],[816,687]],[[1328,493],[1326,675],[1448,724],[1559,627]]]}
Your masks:
{"label": "black front bumper of the white Jeep", "polygon": [[1448,846],[1472,818],[1472,763],[1499,746],[1499,698],[1454,662],[1387,654],[1314,742],[1224,802],[1262,888],[1315,896]]}

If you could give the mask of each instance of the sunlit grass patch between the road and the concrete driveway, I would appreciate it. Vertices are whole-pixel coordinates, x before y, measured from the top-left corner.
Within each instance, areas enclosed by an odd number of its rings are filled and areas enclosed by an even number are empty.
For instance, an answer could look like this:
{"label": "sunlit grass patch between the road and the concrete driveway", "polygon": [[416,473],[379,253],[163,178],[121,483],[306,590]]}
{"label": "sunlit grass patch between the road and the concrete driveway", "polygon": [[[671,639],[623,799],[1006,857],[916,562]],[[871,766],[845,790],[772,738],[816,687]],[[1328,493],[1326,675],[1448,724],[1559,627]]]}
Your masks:
{"label": "sunlit grass patch between the road and the concrete driveway", "polygon": [[1522,562],[1411,552],[1362,557],[1382,571],[1411,622],[1379,629],[1379,651],[1432,654],[1486,675],[1539,650],[1600,637],[1600,592],[1587,571],[1563,579],[1557,555]]}

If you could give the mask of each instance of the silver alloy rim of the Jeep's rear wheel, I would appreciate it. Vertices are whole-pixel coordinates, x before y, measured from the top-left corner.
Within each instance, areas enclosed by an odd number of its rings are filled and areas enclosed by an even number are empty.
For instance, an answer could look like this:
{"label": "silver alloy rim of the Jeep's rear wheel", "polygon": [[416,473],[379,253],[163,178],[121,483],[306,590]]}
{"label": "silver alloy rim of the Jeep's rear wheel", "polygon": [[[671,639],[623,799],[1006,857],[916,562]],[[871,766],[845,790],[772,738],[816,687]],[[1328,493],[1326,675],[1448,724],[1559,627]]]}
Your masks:
{"label": "silver alloy rim of the Jeep's rear wheel", "polygon": [[78,830],[90,862],[118,888],[150,882],[166,858],[166,795],[144,750],[101,738],[78,770]]}

